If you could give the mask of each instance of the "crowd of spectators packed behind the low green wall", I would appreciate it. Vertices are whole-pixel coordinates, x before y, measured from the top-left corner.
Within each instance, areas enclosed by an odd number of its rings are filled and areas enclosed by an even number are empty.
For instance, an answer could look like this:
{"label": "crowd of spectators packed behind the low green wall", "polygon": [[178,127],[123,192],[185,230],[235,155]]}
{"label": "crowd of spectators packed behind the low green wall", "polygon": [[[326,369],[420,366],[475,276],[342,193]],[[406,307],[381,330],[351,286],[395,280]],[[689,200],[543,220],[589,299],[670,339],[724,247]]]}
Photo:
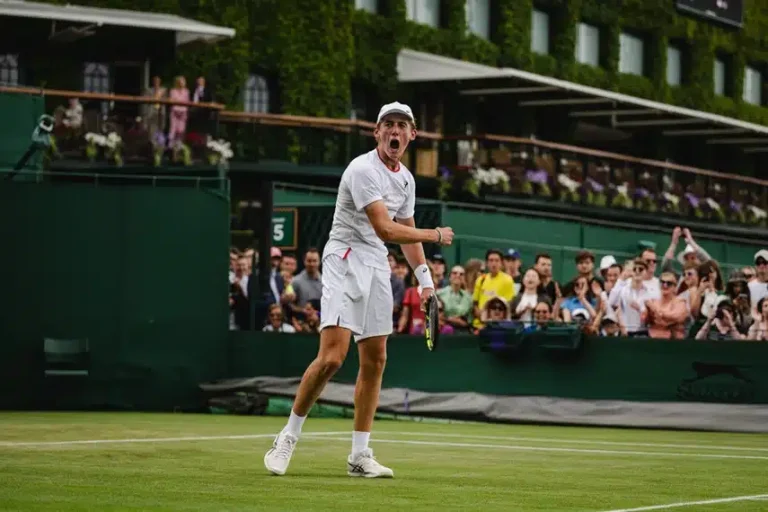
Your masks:
{"label": "crowd of spectators packed behind the low green wall", "polygon": [[[684,250],[678,252],[681,239]],[[230,252],[232,329],[247,329],[253,249]],[[319,331],[321,252],[312,248],[299,260],[272,248],[269,308],[257,328],[268,332]],[[757,251],[754,266],[725,276],[720,265],[688,229],[675,228],[659,262],[647,248],[623,262],[580,251],[573,276],[553,279],[552,257],[539,253],[525,266],[515,249],[488,250],[485,261],[470,259],[448,269],[435,254],[428,262],[439,298],[443,334],[478,333],[491,322],[526,330],[553,324],[578,325],[599,336],[663,339],[768,341],[768,249]],[[405,258],[392,251],[394,334],[424,332],[418,283]],[[680,270],[676,270],[679,268]]]}

